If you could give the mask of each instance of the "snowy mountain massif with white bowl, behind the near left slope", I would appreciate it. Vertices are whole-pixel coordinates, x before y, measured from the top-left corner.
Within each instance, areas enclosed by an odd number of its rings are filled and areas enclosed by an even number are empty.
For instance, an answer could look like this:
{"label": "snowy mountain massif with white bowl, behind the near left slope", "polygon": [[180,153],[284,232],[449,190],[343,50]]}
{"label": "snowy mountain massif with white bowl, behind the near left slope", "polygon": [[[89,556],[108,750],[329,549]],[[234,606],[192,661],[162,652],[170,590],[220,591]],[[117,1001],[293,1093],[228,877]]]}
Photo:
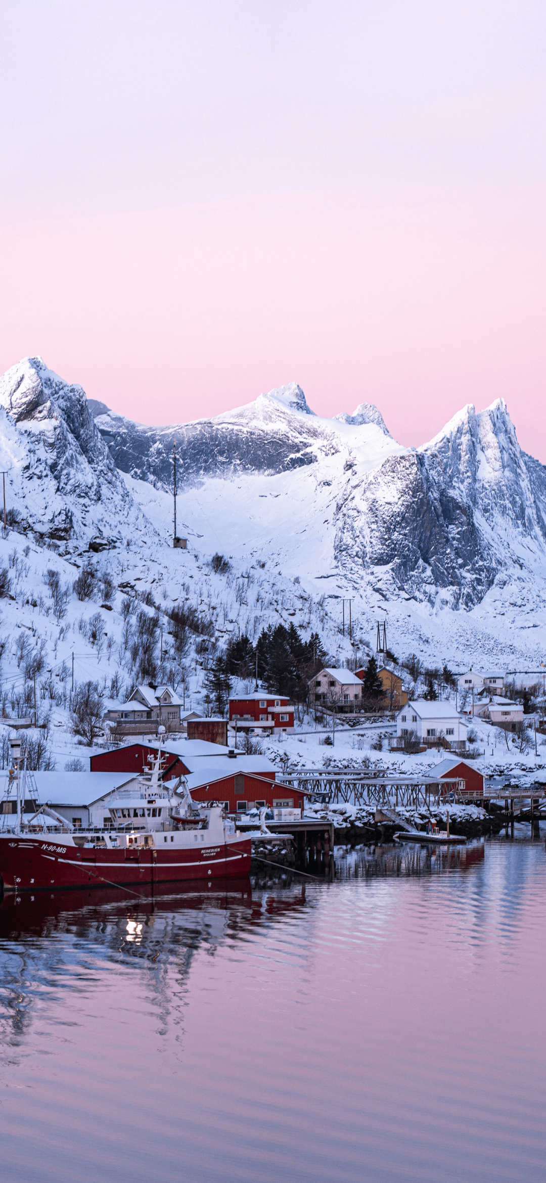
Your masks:
{"label": "snowy mountain massif with white bowl, behind the near left slope", "polygon": [[546,470],[521,452],[502,400],[464,407],[418,450],[370,403],[314,415],[294,383],[164,428],[95,412],[165,537],[176,438],[178,516],[201,551],[298,576],[332,622],[351,597],[359,644],[386,619],[391,648],[435,665],[542,660]]}

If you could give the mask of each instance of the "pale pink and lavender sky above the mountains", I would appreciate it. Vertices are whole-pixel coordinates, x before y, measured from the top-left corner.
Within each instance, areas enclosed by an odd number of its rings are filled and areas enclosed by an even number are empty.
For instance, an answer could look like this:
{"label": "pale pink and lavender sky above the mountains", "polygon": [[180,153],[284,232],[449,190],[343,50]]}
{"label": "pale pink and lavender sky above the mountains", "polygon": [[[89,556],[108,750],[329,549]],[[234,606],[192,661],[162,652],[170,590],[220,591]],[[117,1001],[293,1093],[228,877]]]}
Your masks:
{"label": "pale pink and lavender sky above the mountains", "polygon": [[538,4],[19,0],[0,369],[145,422],[298,381],[404,444],[502,396],[546,460]]}

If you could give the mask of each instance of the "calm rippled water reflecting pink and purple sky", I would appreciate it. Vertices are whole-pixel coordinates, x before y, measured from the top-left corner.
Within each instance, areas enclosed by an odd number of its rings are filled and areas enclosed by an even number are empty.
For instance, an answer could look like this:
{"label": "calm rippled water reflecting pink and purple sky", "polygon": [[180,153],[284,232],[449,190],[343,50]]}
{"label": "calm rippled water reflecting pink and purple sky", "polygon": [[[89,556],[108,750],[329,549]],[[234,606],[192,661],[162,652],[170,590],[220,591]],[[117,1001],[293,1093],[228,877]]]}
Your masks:
{"label": "calm rippled water reflecting pink and purple sky", "polygon": [[0,907],[2,1178],[540,1179],[544,842]]}

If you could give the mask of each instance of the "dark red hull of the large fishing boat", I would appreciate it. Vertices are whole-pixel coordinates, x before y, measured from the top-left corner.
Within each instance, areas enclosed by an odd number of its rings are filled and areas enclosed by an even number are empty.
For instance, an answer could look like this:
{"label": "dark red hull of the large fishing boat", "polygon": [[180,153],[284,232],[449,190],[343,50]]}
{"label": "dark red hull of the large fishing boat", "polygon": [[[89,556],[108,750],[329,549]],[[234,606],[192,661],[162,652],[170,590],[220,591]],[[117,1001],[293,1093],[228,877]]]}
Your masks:
{"label": "dark red hull of the large fishing boat", "polygon": [[85,848],[51,838],[0,838],[0,877],[5,892],[112,887],[247,875],[251,839],[201,849],[150,847]]}

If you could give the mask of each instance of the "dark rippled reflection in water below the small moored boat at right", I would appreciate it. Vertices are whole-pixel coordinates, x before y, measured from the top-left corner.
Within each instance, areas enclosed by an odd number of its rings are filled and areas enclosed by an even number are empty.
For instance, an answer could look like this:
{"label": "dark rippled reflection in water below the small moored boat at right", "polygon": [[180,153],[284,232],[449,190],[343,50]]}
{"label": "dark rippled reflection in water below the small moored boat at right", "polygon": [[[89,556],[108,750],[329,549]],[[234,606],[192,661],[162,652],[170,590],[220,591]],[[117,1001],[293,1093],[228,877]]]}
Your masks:
{"label": "dark rippled reflection in water below the small moored boat at right", "polygon": [[469,871],[483,862],[482,840],[467,846],[428,846],[396,842],[384,846],[360,846],[352,851],[336,848],[336,879],[375,879],[392,875],[430,875],[449,871]]}

